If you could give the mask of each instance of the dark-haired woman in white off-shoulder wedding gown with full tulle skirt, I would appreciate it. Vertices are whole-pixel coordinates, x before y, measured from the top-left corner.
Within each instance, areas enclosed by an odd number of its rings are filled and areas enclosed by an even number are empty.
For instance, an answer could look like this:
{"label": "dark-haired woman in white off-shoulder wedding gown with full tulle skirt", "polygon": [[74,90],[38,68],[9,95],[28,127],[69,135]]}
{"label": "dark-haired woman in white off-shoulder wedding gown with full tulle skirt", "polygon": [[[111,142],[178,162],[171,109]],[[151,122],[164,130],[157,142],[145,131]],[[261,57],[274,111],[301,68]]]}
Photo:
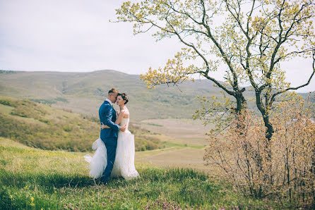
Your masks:
{"label": "dark-haired woman in white off-shoulder wedding gown with full tulle skirt", "polygon": [[[126,107],[128,100],[129,98],[127,94],[117,94],[116,103],[119,106],[120,111],[117,111],[119,116],[115,123],[117,125],[119,123],[121,125],[126,125],[126,130],[124,132],[119,130],[118,132],[116,156],[111,173],[111,177],[122,176],[126,180],[130,180],[131,178],[136,178],[139,176],[139,173],[136,171],[134,166],[134,136],[128,130],[129,110]],[[102,129],[108,128],[109,127],[107,125],[102,125]],[[107,153],[105,144],[100,138],[93,143],[92,149],[95,150],[94,156],[86,154],[84,158],[85,161],[90,163],[90,175],[96,179],[102,176],[102,173],[107,166]]]}

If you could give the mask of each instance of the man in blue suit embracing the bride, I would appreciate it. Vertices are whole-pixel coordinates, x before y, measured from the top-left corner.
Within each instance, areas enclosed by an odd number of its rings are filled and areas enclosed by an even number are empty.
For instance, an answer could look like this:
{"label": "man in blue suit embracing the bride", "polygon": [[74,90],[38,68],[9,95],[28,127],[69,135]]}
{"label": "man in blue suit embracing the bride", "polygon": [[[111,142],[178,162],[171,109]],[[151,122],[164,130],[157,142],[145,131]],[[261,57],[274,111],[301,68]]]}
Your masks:
{"label": "man in blue suit embracing the bride", "polygon": [[100,130],[100,138],[107,149],[107,166],[100,179],[102,183],[108,182],[109,175],[112,172],[116,155],[118,130],[123,132],[126,130],[126,125],[119,126],[114,123],[116,121],[116,111],[112,104],[116,102],[117,94],[117,89],[110,89],[107,99],[100,106],[100,110],[98,111],[101,125],[107,125],[109,127]]}

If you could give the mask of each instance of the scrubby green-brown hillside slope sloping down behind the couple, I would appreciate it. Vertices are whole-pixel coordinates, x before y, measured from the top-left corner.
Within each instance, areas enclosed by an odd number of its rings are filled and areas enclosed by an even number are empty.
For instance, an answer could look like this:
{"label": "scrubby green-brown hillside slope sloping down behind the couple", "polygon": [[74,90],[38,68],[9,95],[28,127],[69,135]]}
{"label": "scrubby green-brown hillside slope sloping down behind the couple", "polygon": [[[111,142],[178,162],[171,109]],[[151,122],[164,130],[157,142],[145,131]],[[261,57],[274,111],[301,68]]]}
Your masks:
{"label": "scrubby green-brown hillside slope sloping down behind the couple", "polygon": [[[160,135],[133,125],[129,130],[136,136],[137,151],[164,147]],[[41,149],[85,152],[99,136],[98,118],[0,96],[0,137]]]}

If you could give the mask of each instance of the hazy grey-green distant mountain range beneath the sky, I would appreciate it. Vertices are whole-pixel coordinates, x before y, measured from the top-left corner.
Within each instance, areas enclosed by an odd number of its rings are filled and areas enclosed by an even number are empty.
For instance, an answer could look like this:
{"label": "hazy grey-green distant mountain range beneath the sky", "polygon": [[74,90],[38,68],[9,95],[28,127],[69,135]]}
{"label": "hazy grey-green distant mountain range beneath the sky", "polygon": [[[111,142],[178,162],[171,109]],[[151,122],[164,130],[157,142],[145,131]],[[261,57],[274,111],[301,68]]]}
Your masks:
{"label": "hazy grey-green distant mountain range beneath the sky", "polygon": [[[191,118],[201,104],[196,96],[219,96],[221,89],[210,80],[184,82],[179,87],[160,85],[147,89],[139,75],[114,70],[90,73],[0,71],[0,95],[30,99],[97,116],[110,88],[129,95],[131,121],[149,118]],[[246,96],[253,94],[246,91]],[[249,107],[254,107],[249,102]]]}

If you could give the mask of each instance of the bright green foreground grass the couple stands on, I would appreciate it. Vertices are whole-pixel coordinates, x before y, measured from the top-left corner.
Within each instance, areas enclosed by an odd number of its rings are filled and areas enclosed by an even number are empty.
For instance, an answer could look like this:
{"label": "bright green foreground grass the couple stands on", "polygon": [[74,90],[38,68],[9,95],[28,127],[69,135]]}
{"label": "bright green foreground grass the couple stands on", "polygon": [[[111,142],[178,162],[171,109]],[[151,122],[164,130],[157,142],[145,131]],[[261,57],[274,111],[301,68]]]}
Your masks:
{"label": "bright green foreground grass the couple stands on", "polygon": [[95,185],[84,153],[44,151],[0,137],[0,209],[267,209],[192,169],[136,164],[141,178]]}

